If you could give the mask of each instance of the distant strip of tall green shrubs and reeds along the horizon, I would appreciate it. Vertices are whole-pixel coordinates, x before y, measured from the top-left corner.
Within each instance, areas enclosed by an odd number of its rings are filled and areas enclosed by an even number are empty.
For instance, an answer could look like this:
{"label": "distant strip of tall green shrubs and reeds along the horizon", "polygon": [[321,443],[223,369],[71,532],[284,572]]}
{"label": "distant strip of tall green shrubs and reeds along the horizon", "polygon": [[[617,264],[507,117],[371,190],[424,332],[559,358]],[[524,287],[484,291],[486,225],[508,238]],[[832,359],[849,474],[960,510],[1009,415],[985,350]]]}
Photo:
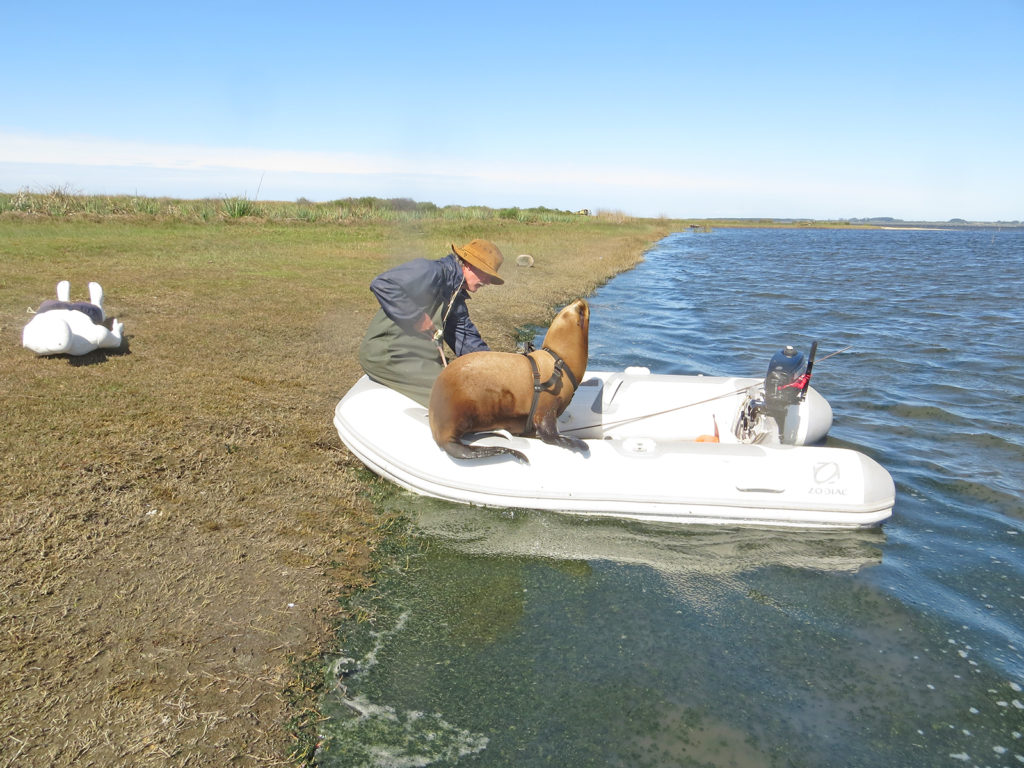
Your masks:
{"label": "distant strip of tall green shrubs and reeds along the horizon", "polygon": [[[573,211],[537,208],[501,208],[486,206],[437,206],[409,198],[343,198],[313,203],[299,198],[294,203],[263,202],[247,197],[178,200],[136,196],[79,195],[67,187],[33,193],[22,189],[0,193],[0,214],[19,213],[50,217],[152,217],[184,221],[263,219],[268,221],[345,222],[402,221],[421,219],[479,220],[510,219],[524,223],[567,222],[581,218]],[[614,211],[598,211],[598,218],[624,221],[630,217]]]}

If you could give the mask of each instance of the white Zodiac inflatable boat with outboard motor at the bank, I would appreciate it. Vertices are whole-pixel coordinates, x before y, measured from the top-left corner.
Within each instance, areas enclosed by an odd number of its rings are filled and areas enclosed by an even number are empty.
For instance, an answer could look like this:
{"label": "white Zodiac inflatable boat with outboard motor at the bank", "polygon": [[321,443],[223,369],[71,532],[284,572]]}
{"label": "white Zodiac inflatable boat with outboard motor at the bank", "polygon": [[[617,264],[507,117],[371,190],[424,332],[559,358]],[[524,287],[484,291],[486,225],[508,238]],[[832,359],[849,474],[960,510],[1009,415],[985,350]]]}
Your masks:
{"label": "white Zodiac inflatable boat with outboard motor at the bank", "polygon": [[[784,368],[780,355],[772,366]],[[377,474],[453,502],[725,525],[859,528],[888,518],[895,488],[881,465],[810,444],[827,433],[831,408],[800,379],[809,367],[772,366],[765,379],[588,371],[558,426],[589,455],[507,433],[472,440],[521,451],[529,464],[453,459],[434,443],[425,408],[367,377],[334,423]]]}

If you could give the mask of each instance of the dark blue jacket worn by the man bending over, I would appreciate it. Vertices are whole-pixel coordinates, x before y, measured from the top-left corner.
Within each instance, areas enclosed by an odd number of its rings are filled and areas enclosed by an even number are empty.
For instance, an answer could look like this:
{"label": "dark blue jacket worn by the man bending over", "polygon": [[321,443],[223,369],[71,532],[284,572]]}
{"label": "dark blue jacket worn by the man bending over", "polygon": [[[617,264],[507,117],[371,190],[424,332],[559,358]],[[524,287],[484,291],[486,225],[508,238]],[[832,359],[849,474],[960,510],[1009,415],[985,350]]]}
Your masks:
{"label": "dark blue jacket worn by the man bending over", "polygon": [[408,334],[422,336],[416,325],[424,313],[438,322],[440,308],[441,316],[447,312],[444,341],[456,355],[489,349],[469,318],[469,294],[463,289],[462,264],[454,253],[434,261],[414,259],[399,264],[374,278],[370,290],[384,313]]}

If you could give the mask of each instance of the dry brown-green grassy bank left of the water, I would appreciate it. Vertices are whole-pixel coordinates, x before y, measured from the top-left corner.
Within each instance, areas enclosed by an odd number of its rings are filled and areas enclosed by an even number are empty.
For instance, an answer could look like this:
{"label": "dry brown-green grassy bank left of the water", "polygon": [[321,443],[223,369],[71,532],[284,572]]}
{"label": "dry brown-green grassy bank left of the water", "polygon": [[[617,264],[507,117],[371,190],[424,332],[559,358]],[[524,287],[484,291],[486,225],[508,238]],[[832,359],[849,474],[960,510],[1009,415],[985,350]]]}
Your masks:
{"label": "dry brown-green grassy bank left of the water", "polygon": [[[371,278],[494,240],[507,284],[471,306],[510,349],[680,228],[537,209],[203,217],[73,196],[47,212],[14,197],[0,200],[0,766],[294,762],[289,723],[316,717],[298,663],[372,578],[388,524],[331,424],[360,375]],[[125,348],[20,347],[58,280],[73,299],[103,285]]]}

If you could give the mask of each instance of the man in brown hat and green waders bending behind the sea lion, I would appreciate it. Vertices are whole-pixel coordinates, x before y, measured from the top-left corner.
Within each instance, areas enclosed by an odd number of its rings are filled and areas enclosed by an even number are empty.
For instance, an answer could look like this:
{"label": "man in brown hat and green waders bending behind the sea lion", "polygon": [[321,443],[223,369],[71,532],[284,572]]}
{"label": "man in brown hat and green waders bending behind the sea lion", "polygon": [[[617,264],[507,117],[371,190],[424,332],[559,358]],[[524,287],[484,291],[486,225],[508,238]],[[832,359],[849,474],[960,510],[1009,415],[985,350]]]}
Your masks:
{"label": "man in brown hat and green waders bending behind the sea lion", "polygon": [[500,286],[498,246],[473,240],[443,258],[414,259],[370,284],[381,308],[359,347],[371,379],[426,407],[444,364],[441,341],[456,355],[489,349],[469,318],[466,300],[482,286]]}

